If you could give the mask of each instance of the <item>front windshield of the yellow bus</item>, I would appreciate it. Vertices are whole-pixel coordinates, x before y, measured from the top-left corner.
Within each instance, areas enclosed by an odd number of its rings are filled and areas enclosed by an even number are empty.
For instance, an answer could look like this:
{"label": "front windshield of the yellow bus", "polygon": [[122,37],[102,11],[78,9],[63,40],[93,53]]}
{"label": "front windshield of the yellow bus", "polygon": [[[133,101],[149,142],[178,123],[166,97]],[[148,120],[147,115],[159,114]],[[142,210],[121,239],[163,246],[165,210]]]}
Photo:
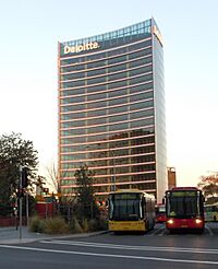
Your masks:
{"label": "front windshield of the yellow bus", "polygon": [[111,195],[109,218],[117,221],[142,218],[141,197],[137,194]]}

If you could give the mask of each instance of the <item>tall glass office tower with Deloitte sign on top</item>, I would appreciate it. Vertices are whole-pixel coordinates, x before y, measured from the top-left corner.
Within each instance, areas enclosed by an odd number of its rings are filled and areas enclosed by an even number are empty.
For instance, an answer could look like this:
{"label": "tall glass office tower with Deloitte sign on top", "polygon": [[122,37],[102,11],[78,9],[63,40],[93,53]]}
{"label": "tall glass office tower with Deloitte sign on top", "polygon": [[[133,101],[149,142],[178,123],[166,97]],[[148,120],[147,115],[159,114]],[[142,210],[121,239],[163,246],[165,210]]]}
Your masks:
{"label": "tall glass office tower with Deloitte sign on top", "polygon": [[75,194],[74,173],[95,173],[99,199],[137,188],[167,189],[162,43],[154,19],[59,43],[59,179]]}

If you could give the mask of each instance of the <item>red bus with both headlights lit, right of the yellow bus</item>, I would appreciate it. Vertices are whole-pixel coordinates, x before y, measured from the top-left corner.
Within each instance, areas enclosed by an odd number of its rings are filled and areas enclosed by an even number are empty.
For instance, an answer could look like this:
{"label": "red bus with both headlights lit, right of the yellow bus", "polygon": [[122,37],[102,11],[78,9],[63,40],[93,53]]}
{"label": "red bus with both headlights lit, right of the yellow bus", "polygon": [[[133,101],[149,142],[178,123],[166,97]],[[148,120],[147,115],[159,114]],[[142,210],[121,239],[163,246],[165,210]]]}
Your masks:
{"label": "red bus with both headlights lit, right of the yellow bus", "polygon": [[166,191],[166,227],[170,231],[204,232],[204,196],[195,187],[175,187]]}

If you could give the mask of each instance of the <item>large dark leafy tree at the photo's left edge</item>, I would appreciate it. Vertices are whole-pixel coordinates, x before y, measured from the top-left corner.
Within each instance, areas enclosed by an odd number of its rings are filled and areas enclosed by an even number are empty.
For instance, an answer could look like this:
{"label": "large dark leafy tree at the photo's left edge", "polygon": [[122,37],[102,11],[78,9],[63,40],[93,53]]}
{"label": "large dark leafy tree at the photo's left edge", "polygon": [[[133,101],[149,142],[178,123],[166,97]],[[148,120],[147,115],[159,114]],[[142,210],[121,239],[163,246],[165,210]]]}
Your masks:
{"label": "large dark leafy tree at the photo's left edge", "polygon": [[21,133],[0,137],[0,207],[1,214],[11,212],[11,200],[17,191],[20,166],[28,168],[28,186],[36,178],[38,165],[37,151],[29,140],[23,140]]}

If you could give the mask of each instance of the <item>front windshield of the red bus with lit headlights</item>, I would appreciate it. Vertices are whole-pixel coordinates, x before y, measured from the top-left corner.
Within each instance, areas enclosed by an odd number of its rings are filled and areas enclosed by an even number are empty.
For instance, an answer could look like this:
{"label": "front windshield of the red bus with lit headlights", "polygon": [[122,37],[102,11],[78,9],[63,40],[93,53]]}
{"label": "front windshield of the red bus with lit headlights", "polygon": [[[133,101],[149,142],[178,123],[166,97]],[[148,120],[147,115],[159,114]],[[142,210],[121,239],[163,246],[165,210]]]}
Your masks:
{"label": "front windshield of the red bus with lit headlights", "polygon": [[196,191],[172,191],[168,194],[167,215],[174,218],[193,218],[201,215],[199,197]]}

